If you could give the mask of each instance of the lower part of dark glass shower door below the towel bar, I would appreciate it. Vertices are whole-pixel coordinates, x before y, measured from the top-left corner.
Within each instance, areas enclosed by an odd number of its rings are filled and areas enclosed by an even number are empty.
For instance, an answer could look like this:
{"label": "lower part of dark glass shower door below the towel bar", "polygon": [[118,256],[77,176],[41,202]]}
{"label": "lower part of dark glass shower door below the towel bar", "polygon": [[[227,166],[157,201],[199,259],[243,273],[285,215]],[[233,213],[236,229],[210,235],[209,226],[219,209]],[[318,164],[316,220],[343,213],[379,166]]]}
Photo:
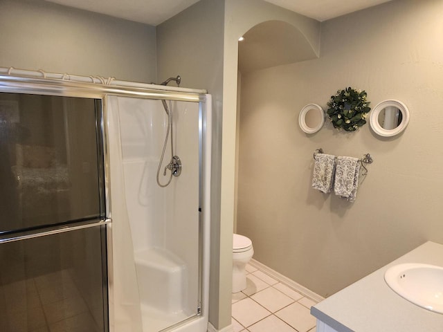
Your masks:
{"label": "lower part of dark glass shower door below the towel bar", "polygon": [[102,227],[0,244],[0,331],[108,331]]}

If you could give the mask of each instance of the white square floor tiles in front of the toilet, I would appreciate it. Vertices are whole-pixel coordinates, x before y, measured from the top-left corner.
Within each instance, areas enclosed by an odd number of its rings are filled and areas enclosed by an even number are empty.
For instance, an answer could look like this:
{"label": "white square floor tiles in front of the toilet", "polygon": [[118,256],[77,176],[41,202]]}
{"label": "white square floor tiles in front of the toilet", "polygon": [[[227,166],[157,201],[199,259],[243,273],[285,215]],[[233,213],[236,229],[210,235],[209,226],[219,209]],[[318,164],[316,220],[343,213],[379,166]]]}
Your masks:
{"label": "white square floor tiles in front of the toilet", "polygon": [[316,302],[250,264],[246,271],[246,289],[232,297],[234,332],[315,332]]}

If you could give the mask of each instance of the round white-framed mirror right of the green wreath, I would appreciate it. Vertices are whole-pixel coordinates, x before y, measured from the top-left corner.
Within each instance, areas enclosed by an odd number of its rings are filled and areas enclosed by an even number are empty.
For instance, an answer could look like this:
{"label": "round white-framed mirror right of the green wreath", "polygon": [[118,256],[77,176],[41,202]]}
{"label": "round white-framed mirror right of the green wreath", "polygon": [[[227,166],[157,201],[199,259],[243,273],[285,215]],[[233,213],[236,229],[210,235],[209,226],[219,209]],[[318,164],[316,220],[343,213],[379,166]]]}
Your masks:
{"label": "round white-framed mirror right of the green wreath", "polygon": [[379,136],[395,136],[409,123],[409,110],[399,100],[385,100],[371,111],[369,123]]}

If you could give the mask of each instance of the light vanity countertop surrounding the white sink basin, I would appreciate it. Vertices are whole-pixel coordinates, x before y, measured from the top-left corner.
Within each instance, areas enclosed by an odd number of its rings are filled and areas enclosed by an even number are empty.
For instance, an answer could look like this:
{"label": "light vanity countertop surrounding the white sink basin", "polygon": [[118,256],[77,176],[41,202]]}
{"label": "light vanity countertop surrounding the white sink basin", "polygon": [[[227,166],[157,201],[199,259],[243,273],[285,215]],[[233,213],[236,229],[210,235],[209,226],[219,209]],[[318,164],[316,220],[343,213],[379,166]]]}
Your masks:
{"label": "light vanity countertop surrounding the white sink basin", "polygon": [[443,266],[443,245],[422,244],[316,304],[311,314],[338,332],[442,332],[442,314],[408,302],[386,284],[386,270],[402,263]]}

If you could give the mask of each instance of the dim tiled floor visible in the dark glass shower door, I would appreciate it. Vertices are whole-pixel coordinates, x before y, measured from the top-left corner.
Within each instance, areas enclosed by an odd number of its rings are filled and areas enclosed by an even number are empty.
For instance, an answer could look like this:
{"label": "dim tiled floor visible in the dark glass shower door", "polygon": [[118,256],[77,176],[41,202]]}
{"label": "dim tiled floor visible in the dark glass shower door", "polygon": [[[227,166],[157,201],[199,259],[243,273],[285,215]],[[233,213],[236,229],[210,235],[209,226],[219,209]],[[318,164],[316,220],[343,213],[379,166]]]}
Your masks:
{"label": "dim tiled floor visible in the dark glass shower door", "polygon": [[0,331],[100,331],[94,313],[100,317],[102,308],[91,310],[91,303],[67,270],[0,284]]}

